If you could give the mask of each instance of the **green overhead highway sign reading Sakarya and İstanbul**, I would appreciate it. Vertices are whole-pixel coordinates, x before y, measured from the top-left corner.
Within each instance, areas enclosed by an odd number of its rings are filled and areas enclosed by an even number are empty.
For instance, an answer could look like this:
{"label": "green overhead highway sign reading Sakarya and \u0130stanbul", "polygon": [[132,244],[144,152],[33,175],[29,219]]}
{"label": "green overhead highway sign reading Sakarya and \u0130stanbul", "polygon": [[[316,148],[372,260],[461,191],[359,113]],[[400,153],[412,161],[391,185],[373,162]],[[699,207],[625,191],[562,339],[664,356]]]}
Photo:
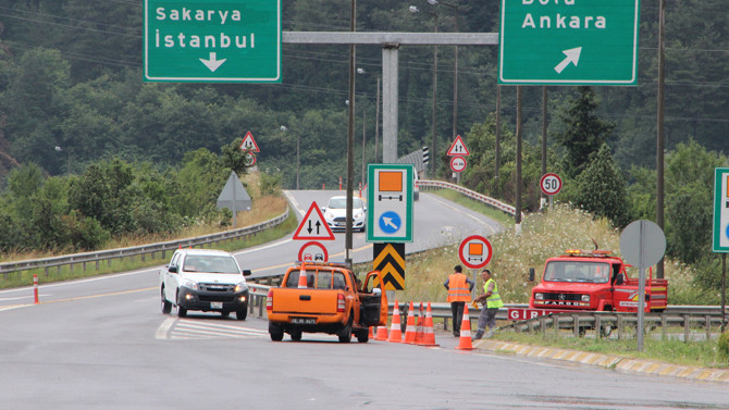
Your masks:
{"label": "green overhead highway sign reading Sakarya and \u0130stanbul", "polygon": [[147,82],[281,82],[281,0],[145,0]]}

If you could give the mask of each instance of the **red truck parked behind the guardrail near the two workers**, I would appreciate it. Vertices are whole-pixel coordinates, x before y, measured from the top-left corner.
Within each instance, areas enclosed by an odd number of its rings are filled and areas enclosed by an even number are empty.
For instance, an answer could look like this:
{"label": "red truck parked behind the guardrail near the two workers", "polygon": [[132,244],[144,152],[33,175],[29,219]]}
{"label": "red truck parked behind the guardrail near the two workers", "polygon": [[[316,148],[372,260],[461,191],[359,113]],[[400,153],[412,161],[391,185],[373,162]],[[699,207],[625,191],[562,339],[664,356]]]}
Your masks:
{"label": "red truck parked behind the guardrail near the two workers", "polygon": [[[563,256],[547,259],[542,282],[532,289],[531,314],[527,315],[544,314],[545,310],[638,312],[639,279],[629,277],[626,268],[631,268],[635,276],[638,270],[611,253],[567,250]],[[663,312],[667,305],[668,281],[648,276],[644,312]],[[511,319],[512,314],[509,315]]]}

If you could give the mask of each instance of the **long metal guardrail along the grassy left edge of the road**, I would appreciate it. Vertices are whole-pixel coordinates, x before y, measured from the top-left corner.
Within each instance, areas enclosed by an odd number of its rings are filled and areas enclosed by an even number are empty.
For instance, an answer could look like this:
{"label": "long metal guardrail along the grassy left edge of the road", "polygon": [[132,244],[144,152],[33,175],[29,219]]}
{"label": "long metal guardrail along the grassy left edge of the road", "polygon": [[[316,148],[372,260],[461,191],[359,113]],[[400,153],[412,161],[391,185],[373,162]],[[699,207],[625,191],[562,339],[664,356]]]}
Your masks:
{"label": "long metal guardrail along the grassy left edge of the road", "polygon": [[141,260],[144,261],[146,254],[151,254],[153,259],[157,252],[162,252],[162,258],[164,259],[165,252],[168,250],[174,250],[181,247],[186,248],[191,246],[214,244],[223,240],[237,239],[240,237],[255,235],[261,231],[268,229],[269,227],[280,225],[281,223],[286,221],[286,219],[288,218],[288,212],[289,212],[288,207],[286,207],[286,211],[281,215],[272,218],[259,224],[246,226],[239,229],[225,231],[217,234],[197,236],[193,238],[170,240],[165,243],[149,244],[128,248],[100,250],[96,252],[73,253],[53,258],[0,263],[0,273],[2,273],[7,278],[8,275],[12,272],[44,268],[46,276],[48,276],[49,269],[53,266],[57,266],[60,270],[61,266],[70,265],[71,270],[73,271],[73,266],[75,264],[81,263],[83,270],[85,271],[86,263],[96,262],[96,269],[98,270],[99,262],[104,260],[108,261],[109,265],[111,265],[111,261],[113,259],[134,258],[136,256],[141,256]]}

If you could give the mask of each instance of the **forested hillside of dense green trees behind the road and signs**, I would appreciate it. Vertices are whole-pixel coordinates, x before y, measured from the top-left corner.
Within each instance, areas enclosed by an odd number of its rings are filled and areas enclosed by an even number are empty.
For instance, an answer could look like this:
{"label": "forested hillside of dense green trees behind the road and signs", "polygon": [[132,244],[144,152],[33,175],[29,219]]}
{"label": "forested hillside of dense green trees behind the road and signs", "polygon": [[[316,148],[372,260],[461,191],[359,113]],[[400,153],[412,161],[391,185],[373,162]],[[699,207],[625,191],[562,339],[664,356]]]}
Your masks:
{"label": "forested hillside of dense green trees behind the road and signs", "polygon": [[[557,199],[618,228],[655,218],[658,1],[641,2],[637,86],[547,87],[548,171],[565,178]],[[729,145],[729,13],[722,0],[666,3],[668,253],[695,264],[701,285],[712,287],[712,178],[727,165]],[[349,2],[282,4],[284,30],[349,30]],[[409,12],[411,4],[423,12]],[[356,26],[454,32],[457,5],[459,32],[496,33],[499,4],[360,0]],[[143,8],[140,0],[0,0],[0,252],[92,249],[112,235],[224,223],[210,202],[230,170],[242,172],[235,144],[248,131],[269,186],[296,186],[297,141],[301,188],[346,176],[348,46],[284,44],[281,84],[145,83]],[[398,153],[431,145],[435,51],[438,169],[428,176],[447,178],[453,47],[400,47]],[[374,140],[381,59],[379,47],[357,47],[358,162],[362,142],[364,162],[382,158]],[[497,173],[496,77],[496,47],[458,48],[457,129],[471,151],[461,182],[512,203],[516,87],[501,87]],[[522,203],[535,211],[542,87],[523,89]]]}

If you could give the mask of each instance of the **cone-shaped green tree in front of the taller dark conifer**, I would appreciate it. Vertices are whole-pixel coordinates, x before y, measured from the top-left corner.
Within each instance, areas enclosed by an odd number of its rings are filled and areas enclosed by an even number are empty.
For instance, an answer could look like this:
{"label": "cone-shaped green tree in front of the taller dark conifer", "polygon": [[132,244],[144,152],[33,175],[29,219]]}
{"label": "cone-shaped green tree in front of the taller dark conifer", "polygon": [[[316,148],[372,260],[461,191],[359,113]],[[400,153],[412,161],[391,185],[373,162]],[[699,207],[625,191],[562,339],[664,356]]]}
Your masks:
{"label": "cone-shaped green tree in front of the taller dark conifer", "polygon": [[613,161],[610,149],[603,144],[590,164],[576,178],[572,194],[574,204],[605,216],[617,227],[629,222],[627,183],[620,170]]}

